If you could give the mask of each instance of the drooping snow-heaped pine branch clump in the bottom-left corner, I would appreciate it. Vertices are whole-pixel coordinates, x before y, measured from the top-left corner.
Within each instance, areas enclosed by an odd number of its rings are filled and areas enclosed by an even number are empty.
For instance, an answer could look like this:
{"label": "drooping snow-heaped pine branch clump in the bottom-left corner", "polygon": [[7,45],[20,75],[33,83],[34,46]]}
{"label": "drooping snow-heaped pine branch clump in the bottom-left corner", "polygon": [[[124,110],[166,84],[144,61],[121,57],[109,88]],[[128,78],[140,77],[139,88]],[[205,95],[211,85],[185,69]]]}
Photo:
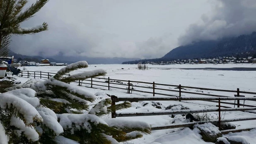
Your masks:
{"label": "drooping snow-heaped pine branch clump in the bottom-left corner", "polygon": [[39,134],[34,125],[35,122],[41,123],[43,118],[35,108],[39,106],[39,98],[35,98],[35,95],[36,91],[30,88],[21,88],[0,94],[0,139],[2,144],[8,144],[8,141],[13,143],[14,139],[10,139],[10,136],[24,136],[32,142],[39,140]]}

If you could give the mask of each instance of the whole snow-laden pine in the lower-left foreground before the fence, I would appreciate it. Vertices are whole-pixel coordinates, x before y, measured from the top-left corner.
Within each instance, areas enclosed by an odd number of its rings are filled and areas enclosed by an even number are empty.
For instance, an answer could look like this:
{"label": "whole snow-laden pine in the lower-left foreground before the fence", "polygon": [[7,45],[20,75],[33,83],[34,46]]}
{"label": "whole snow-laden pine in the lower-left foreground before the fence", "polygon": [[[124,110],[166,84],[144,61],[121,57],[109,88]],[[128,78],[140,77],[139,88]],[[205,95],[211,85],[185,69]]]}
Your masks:
{"label": "whole snow-laden pine in the lower-left foreground before the fence", "polygon": [[13,144],[118,144],[150,133],[150,125],[144,122],[101,117],[130,107],[130,102],[111,106],[111,99],[103,98],[88,106],[97,96],[72,82],[103,76],[106,71],[64,75],[86,67],[86,61],[73,63],[46,81],[29,80],[0,94],[0,140],[4,144],[7,137]]}

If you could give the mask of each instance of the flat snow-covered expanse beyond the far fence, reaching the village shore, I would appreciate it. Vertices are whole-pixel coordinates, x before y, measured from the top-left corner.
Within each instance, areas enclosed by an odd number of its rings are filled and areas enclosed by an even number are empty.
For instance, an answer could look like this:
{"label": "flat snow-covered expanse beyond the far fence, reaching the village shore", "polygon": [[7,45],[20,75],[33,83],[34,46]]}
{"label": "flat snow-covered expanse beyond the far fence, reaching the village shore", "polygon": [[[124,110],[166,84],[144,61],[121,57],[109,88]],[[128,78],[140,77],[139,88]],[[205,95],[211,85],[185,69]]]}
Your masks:
{"label": "flat snow-covered expanse beyond the far fence, reaching the village shore", "polygon": [[[256,64],[198,64],[198,65],[147,65],[147,70],[138,70],[137,65],[89,65],[72,73],[84,72],[102,68],[106,70],[105,78],[131,81],[144,81],[194,86],[204,88],[217,88],[240,91],[256,91],[256,71],[241,71],[243,68],[256,68]],[[26,67],[29,71],[42,71],[56,73],[63,66]],[[209,69],[212,68],[212,69]],[[239,67],[239,70],[234,70]],[[183,69],[186,68],[186,69]],[[189,69],[188,69],[189,68]],[[205,68],[205,69],[201,69]],[[218,68],[222,70],[213,70]],[[233,70],[229,70],[233,68]],[[23,70],[23,68],[20,68]]]}

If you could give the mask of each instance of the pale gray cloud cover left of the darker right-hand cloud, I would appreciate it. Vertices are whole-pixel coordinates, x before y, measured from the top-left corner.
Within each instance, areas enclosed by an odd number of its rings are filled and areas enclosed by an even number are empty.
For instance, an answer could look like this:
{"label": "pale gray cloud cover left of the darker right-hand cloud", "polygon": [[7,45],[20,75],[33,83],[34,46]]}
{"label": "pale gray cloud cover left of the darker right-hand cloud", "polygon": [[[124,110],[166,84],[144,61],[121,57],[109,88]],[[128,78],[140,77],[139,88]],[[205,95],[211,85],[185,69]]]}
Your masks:
{"label": "pale gray cloud cover left of the darker right-hand cloud", "polygon": [[209,8],[205,0],[50,0],[22,23],[46,21],[49,30],[12,37],[11,49],[31,56],[159,58]]}

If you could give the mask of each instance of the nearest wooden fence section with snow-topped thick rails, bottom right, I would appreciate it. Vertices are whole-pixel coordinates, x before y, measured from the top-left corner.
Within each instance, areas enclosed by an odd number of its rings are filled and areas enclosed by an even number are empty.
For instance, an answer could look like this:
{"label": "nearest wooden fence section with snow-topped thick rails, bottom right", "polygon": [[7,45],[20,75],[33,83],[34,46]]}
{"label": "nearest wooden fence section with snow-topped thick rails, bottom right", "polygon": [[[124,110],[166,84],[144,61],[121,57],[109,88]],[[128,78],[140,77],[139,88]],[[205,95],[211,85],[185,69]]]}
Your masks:
{"label": "nearest wooden fence section with snow-topped thick rails, bottom right", "polygon": [[163,130],[163,129],[169,129],[169,128],[182,128],[182,127],[190,127],[193,126],[196,123],[217,123],[219,128],[221,128],[221,123],[227,123],[232,121],[250,121],[250,120],[256,120],[256,117],[250,117],[250,118],[232,118],[232,119],[221,119],[221,112],[223,111],[249,111],[249,110],[256,110],[256,107],[237,107],[237,108],[222,108],[220,105],[220,100],[256,100],[255,97],[253,98],[238,98],[238,97],[220,97],[220,98],[209,98],[209,97],[138,97],[138,98],[118,98],[114,95],[111,95],[112,103],[111,105],[116,105],[116,102],[119,101],[161,101],[161,100],[218,100],[218,108],[208,108],[208,109],[185,109],[185,110],[166,110],[166,111],[154,111],[154,112],[119,112],[116,113],[116,111],[113,111],[111,113],[112,118],[116,117],[127,117],[127,116],[157,116],[157,115],[171,115],[171,114],[194,114],[194,113],[207,113],[207,112],[215,112],[218,111],[218,120],[210,120],[210,121],[197,121],[197,122],[191,122],[191,123],[179,123],[179,124],[170,124],[170,125],[157,125],[153,126],[151,130]]}

